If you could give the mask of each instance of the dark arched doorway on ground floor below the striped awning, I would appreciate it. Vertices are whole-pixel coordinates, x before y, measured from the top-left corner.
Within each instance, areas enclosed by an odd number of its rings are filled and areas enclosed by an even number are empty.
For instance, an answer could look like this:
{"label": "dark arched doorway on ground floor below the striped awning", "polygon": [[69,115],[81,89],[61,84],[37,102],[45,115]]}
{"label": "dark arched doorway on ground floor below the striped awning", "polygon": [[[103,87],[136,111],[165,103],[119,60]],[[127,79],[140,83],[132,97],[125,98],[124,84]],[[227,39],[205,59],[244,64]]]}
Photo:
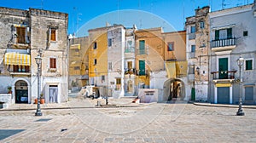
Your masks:
{"label": "dark arched doorway on ground floor below the striped awning", "polygon": [[15,83],[15,103],[28,103],[28,88],[26,81]]}

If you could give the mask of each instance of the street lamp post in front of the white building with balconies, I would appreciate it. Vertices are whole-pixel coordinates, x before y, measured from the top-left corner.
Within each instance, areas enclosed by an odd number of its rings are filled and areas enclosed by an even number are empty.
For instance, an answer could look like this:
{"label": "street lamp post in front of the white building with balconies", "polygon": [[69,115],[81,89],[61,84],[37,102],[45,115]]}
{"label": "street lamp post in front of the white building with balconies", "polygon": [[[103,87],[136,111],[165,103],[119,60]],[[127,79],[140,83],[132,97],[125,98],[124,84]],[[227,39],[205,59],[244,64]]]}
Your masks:
{"label": "street lamp post in front of the white building with balconies", "polygon": [[238,108],[238,111],[236,112],[236,115],[237,116],[244,116],[244,112],[242,112],[242,109],[241,109],[241,94],[242,94],[241,66],[243,66],[244,59],[240,55],[240,58],[236,61],[237,61],[237,65],[239,66],[239,79],[240,79],[240,88],[241,88],[240,96],[239,96],[239,108]]}

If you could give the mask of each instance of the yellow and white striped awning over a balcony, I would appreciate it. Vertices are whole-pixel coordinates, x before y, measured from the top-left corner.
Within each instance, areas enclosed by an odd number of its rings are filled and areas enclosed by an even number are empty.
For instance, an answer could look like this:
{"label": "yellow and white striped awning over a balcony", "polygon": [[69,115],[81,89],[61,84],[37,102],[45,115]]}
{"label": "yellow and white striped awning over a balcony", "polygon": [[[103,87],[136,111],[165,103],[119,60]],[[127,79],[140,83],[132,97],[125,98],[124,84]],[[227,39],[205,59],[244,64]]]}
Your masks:
{"label": "yellow and white striped awning over a balcony", "polygon": [[30,66],[30,54],[6,53],[5,65]]}

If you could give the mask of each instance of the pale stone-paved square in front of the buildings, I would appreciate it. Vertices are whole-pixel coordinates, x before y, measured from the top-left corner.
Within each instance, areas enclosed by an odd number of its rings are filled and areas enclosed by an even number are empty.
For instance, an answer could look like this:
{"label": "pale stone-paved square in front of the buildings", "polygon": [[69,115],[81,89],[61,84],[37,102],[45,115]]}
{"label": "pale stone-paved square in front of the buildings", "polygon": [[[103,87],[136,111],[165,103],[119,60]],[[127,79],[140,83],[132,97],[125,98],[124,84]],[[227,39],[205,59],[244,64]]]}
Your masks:
{"label": "pale stone-paved square in front of the buildings", "polygon": [[[1,142],[256,142],[256,110],[186,103],[95,108],[71,100],[69,108],[1,111],[0,129],[24,129]],[[47,122],[36,122],[50,118]]]}

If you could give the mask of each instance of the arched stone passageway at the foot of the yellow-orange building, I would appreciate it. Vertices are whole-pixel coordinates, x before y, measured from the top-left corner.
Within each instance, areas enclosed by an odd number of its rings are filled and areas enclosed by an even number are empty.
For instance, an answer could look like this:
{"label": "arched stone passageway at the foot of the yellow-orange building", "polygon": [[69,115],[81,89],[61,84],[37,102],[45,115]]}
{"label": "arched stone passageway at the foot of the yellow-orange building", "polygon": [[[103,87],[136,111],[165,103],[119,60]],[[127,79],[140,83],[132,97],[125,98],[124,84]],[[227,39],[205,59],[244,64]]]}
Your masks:
{"label": "arched stone passageway at the foot of the yellow-orange building", "polygon": [[181,79],[170,78],[164,83],[163,101],[184,100],[185,84]]}

